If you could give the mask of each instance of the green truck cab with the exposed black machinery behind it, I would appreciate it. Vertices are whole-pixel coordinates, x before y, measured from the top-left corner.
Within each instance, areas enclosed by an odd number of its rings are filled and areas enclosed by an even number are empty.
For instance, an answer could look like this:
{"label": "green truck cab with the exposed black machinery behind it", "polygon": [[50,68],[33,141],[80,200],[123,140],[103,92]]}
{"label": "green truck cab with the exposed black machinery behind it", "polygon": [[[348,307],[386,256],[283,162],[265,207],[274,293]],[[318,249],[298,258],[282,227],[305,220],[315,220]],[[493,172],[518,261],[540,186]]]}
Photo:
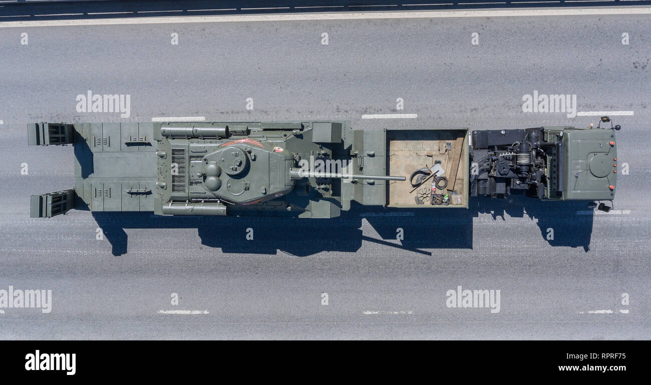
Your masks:
{"label": "green truck cab with the exposed black machinery behind it", "polygon": [[[610,122],[607,116],[603,122]],[[592,125],[474,131],[471,196],[516,191],[547,200],[613,200],[615,130]]]}

